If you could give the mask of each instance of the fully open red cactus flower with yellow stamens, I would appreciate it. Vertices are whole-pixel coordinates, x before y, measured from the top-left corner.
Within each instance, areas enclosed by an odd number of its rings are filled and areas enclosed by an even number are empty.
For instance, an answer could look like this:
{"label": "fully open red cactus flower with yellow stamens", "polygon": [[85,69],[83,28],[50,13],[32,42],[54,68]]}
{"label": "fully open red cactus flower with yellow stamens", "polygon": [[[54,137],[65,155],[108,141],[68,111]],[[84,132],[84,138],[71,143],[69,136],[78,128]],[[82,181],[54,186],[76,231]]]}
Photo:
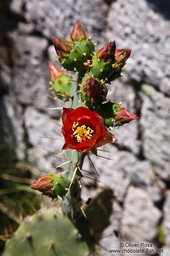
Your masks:
{"label": "fully open red cactus flower with yellow stamens", "polygon": [[64,108],[62,120],[65,150],[76,149],[85,153],[106,143],[118,141],[105,128],[103,117],[88,108]]}

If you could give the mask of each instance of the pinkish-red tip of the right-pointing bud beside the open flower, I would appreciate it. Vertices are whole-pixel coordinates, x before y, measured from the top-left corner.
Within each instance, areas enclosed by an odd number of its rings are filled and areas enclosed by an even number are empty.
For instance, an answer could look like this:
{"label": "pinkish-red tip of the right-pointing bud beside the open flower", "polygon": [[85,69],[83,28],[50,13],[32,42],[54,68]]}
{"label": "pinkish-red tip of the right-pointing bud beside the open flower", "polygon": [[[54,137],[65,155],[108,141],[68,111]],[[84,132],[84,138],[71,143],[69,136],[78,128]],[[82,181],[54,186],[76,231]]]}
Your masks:
{"label": "pinkish-red tip of the right-pointing bud beside the open flower", "polygon": [[138,118],[135,114],[132,114],[131,112],[129,112],[129,110],[125,108],[118,108],[118,111],[115,114],[115,120],[118,121],[119,125],[124,125]]}

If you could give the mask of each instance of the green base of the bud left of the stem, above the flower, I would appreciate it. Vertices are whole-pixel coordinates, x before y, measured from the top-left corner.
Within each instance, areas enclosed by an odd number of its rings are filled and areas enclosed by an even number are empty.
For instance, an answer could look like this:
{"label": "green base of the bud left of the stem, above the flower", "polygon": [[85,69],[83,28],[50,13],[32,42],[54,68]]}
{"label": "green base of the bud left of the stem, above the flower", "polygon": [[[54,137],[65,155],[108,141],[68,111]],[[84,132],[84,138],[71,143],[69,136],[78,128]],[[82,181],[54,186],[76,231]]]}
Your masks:
{"label": "green base of the bud left of the stem, above the flower", "polygon": [[[54,80],[52,83],[52,89],[56,96],[61,100],[69,100],[69,94],[71,89],[71,79],[70,75],[62,75],[60,78]],[[65,95],[65,96],[64,96]]]}

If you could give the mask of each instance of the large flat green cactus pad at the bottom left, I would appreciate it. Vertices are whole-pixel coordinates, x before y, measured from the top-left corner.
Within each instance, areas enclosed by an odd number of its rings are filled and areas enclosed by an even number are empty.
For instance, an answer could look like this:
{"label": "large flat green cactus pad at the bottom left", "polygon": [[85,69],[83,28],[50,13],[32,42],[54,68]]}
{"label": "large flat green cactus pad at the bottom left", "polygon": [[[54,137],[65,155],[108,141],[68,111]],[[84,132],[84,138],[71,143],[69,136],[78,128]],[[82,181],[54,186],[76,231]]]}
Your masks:
{"label": "large flat green cactus pad at the bottom left", "polygon": [[3,256],[88,256],[78,229],[55,208],[42,209],[26,220],[6,243]]}

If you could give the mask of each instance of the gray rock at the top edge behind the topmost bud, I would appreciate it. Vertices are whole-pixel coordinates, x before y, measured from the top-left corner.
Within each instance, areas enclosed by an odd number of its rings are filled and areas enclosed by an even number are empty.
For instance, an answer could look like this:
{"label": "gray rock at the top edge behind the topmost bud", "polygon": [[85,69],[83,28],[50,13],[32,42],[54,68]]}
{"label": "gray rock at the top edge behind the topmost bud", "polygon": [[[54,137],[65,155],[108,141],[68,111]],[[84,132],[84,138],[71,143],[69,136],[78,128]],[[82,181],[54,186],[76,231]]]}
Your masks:
{"label": "gray rock at the top edge behind the topmost bud", "polygon": [[82,0],[49,0],[48,4],[44,0],[27,0],[26,11],[27,22],[34,24],[35,29],[49,39],[52,36],[67,39],[79,19],[94,40],[103,41],[98,37],[98,32],[105,28],[107,5],[103,0],[87,0],[86,3]]}

